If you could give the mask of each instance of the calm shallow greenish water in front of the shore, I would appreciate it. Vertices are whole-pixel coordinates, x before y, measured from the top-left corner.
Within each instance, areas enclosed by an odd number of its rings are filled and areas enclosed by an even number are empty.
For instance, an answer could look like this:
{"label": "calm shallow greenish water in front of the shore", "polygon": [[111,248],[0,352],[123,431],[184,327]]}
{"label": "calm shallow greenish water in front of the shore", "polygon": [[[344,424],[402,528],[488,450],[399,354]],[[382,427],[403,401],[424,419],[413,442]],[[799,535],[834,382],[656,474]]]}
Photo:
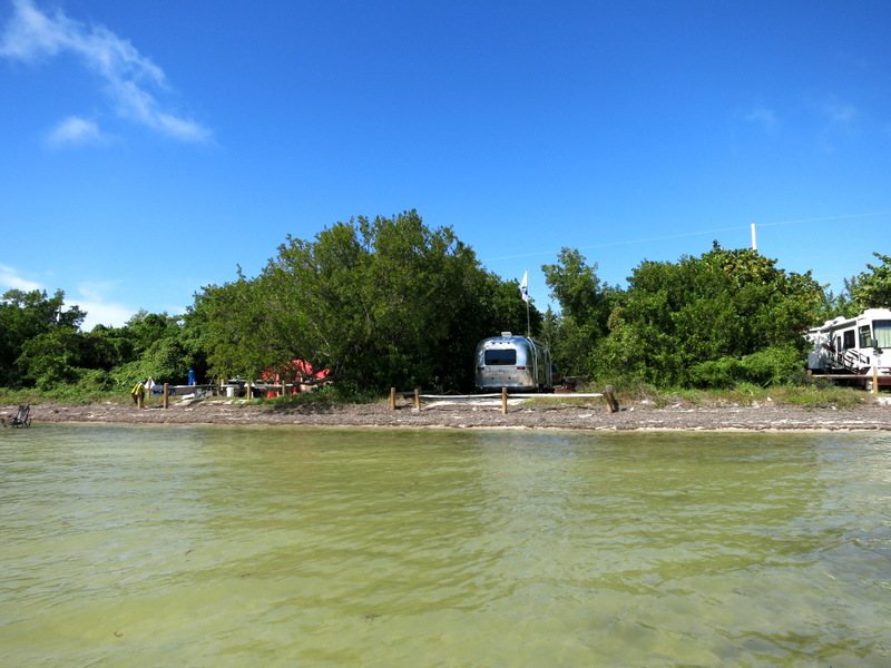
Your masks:
{"label": "calm shallow greenish water in front of the shore", "polygon": [[0,666],[889,666],[891,436],[0,430]]}

